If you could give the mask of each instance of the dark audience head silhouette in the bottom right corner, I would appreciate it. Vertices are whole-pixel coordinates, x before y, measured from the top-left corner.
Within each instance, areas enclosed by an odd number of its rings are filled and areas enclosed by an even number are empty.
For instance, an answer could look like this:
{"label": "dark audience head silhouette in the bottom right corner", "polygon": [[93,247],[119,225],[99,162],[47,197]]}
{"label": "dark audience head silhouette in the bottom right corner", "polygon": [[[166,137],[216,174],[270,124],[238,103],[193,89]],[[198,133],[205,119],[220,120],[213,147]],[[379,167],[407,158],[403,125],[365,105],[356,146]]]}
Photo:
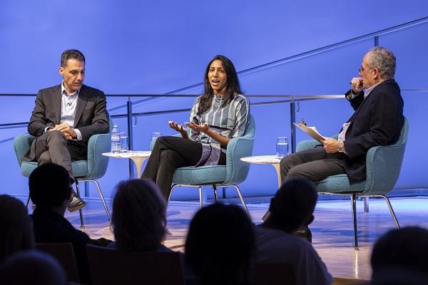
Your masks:
{"label": "dark audience head silhouette in the bottom right corner", "polygon": [[372,284],[428,284],[427,257],[427,229],[392,229],[374,244]]}

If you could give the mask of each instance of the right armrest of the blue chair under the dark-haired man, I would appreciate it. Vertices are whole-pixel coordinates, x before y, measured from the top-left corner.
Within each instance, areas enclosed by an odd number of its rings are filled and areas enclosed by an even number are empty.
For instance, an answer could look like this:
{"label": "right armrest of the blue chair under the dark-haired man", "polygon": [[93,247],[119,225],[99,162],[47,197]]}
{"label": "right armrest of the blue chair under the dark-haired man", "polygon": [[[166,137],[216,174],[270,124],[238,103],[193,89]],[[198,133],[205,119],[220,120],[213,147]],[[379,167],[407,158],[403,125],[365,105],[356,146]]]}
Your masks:
{"label": "right armrest of the blue chair under the dark-haired man", "polygon": [[88,141],[88,176],[86,179],[98,179],[106,173],[108,157],[103,152],[111,151],[111,135],[92,135]]}

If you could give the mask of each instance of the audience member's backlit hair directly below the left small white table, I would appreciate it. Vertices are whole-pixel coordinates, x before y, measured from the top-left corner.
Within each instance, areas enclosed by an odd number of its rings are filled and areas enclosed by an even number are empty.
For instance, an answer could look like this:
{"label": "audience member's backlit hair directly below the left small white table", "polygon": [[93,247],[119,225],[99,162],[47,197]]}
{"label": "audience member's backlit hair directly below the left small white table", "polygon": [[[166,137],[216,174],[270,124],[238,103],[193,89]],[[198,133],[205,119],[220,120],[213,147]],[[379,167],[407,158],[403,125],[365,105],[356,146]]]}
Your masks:
{"label": "audience member's backlit hair directly below the left small white table", "polygon": [[113,199],[111,225],[117,248],[156,250],[165,237],[166,202],[150,180],[120,182]]}

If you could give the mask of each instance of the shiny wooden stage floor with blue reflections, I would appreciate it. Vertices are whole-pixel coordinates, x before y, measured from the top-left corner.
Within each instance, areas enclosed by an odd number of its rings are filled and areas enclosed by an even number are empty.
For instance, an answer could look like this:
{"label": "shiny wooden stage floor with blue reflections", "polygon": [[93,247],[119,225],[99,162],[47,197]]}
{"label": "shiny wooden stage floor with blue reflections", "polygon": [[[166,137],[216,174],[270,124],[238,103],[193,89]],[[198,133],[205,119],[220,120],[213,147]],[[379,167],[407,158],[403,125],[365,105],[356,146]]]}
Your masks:
{"label": "shiny wooden stage floor with blue reflections", "polygon": [[[254,199],[254,198],[252,198]],[[392,207],[397,214],[399,224],[404,226],[418,225],[428,229],[428,197],[401,197],[391,199]],[[350,200],[320,201],[315,209],[315,221],[312,229],[312,244],[327,265],[332,276],[370,279],[370,254],[377,238],[395,227],[383,199],[370,199],[370,212],[364,213],[362,201],[357,202],[358,237],[360,251],[353,247],[354,233]],[[190,219],[198,210],[198,202],[170,202],[168,205],[168,230],[165,245],[183,251],[180,247]],[[255,224],[260,224],[261,217],[267,210],[267,203],[248,204]],[[106,213],[101,202],[88,201],[83,210],[86,229],[92,238],[105,237],[113,239]],[[80,227],[78,212],[68,213],[66,217],[75,227]]]}

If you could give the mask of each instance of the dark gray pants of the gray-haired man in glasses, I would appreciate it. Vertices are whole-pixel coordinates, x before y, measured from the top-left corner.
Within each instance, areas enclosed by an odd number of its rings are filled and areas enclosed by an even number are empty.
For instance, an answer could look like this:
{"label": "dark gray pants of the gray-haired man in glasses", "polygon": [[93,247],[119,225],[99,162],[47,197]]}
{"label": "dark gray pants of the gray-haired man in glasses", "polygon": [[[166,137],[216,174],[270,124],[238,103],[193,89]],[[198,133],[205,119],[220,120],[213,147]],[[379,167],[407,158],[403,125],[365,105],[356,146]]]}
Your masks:
{"label": "dark gray pants of the gray-haired man in glasses", "polygon": [[327,153],[322,146],[317,146],[283,157],[280,172],[282,183],[295,177],[317,182],[330,175],[345,173],[345,155],[341,152]]}

